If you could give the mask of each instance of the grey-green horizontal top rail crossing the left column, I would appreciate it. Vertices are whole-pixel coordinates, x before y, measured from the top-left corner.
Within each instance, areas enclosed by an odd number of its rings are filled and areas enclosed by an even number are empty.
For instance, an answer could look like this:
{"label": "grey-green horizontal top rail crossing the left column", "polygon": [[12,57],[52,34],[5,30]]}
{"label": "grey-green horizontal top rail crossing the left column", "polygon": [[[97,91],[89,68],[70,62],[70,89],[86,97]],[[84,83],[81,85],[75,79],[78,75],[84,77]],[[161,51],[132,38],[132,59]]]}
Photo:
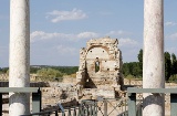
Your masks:
{"label": "grey-green horizontal top rail crossing the left column", "polygon": [[38,93],[40,87],[0,87],[0,93]]}

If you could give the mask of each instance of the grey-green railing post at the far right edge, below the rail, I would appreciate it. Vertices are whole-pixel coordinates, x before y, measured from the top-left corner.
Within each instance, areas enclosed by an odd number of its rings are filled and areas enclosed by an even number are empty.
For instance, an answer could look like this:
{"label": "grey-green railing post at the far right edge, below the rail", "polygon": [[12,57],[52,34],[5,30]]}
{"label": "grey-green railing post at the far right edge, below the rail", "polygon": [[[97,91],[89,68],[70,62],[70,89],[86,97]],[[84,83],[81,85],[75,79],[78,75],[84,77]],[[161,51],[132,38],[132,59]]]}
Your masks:
{"label": "grey-green railing post at the far right edge, below the rail", "polygon": [[177,116],[177,94],[170,94],[170,116]]}

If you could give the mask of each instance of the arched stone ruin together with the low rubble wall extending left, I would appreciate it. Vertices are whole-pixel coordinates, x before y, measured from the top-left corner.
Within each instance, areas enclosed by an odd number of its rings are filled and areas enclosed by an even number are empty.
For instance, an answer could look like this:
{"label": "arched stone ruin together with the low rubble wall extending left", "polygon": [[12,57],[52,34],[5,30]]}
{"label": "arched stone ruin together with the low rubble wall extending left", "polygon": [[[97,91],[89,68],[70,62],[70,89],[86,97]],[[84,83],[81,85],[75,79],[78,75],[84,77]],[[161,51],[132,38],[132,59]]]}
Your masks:
{"label": "arched stone ruin together with the low rubble wall extending left", "polygon": [[80,66],[76,82],[64,84],[49,83],[43,87],[42,108],[52,109],[55,103],[63,106],[77,105],[81,99],[116,98],[125,95],[122,91],[122,52],[117,48],[118,40],[102,38],[90,40],[86,48],[80,51]]}

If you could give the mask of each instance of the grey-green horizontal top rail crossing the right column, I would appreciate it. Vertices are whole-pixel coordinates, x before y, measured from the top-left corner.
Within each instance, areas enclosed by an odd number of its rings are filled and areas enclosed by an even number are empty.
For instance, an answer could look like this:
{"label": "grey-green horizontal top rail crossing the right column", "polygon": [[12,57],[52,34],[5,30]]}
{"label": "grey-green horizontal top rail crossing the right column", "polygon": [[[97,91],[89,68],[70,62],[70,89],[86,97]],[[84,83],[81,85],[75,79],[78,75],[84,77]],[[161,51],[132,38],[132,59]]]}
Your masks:
{"label": "grey-green horizontal top rail crossing the right column", "polygon": [[173,93],[177,94],[177,88],[136,88],[128,87],[127,93]]}

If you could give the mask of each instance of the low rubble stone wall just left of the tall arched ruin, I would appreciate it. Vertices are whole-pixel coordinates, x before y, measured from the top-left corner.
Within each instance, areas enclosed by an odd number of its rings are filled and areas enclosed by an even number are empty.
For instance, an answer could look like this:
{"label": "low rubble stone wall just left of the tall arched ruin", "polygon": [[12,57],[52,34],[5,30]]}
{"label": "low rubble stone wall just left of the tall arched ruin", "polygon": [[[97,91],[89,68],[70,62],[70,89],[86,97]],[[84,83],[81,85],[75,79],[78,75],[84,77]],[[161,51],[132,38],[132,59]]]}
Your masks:
{"label": "low rubble stone wall just left of the tall arched ruin", "polygon": [[48,105],[56,106],[58,103],[63,106],[77,104],[77,91],[73,86],[42,87],[42,104],[45,108]]}

